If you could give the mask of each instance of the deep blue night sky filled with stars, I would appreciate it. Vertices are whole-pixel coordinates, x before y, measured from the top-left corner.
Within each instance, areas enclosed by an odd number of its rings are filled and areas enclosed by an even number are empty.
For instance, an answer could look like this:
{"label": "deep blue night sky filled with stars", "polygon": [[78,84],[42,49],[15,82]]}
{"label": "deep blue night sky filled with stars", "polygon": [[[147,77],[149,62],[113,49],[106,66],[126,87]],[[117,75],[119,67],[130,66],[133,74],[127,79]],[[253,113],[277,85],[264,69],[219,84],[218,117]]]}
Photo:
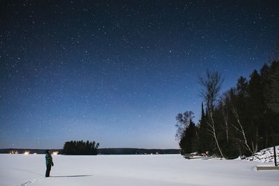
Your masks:
{"label": "deep blue night sky filled with stars", "polygon": [[1,1],[0,148],[178,148],[197,78],[272,56],[279,1]]}

